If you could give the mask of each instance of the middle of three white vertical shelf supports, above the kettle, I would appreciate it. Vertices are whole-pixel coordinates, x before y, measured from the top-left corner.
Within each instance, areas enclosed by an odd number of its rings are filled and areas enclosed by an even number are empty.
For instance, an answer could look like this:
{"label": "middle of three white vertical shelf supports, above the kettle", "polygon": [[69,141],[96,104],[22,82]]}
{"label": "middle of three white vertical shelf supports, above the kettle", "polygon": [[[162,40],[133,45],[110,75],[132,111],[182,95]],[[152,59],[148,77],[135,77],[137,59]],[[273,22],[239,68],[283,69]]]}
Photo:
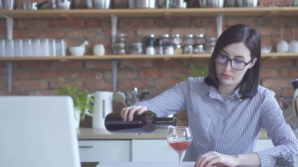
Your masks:
{"label": "middle of three white vertical shelf supports, above the kettle", "polygon": [[[116,41],[116,34],[117,34],[117,22],[118,18],[112,14],[111,15],[111,33],[112,33],[112,44]],[[112,78],[113,78],[113,91],[116,92],[117,90],[117,60],[112,60]]]}

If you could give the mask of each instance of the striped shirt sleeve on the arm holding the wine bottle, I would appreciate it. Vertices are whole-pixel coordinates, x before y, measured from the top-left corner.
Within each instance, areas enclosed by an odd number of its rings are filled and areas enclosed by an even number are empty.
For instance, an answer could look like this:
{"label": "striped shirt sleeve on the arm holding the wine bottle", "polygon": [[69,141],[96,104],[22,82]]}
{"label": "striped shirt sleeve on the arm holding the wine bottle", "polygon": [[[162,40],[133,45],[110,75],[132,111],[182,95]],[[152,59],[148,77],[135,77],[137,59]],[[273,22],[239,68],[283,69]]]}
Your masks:
{"label": "striped shirt sleeve on the arm holding the wine bottle", "polygon": [[165,116],[184,111],[187,108],[189,99],[189,79],[182,81],[167,89],[154,98],[133,104],[133,106],[147,106],[157,116]]}

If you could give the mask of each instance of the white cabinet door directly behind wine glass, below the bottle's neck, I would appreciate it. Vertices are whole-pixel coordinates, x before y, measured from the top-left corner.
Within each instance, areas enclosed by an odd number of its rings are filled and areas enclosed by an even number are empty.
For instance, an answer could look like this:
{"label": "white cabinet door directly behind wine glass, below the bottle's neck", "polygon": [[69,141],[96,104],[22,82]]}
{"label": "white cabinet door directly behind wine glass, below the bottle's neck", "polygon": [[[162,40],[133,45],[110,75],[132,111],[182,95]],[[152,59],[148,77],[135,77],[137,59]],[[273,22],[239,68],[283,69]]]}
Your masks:
{"label": "white cabinet door directly behind wine glass, below the bottle's neck", "polygon": [[[183,153],[182,160],[185,152]],[[133,162],[178,162],[178,154],[166,139],[132,140]]]}

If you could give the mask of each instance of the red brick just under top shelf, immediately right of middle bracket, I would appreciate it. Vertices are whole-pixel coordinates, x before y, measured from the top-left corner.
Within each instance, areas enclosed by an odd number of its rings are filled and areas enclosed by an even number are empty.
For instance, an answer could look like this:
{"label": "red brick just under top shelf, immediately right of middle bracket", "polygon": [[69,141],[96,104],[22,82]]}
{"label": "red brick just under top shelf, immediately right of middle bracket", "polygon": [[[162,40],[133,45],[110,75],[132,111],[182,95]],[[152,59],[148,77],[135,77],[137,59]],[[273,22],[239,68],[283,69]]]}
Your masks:
{"label": "red brick just under top shelf, immediately right of middle bracket", "polygon": [[120,27],[154,27],[154,19],[131,19],[120,20]]}

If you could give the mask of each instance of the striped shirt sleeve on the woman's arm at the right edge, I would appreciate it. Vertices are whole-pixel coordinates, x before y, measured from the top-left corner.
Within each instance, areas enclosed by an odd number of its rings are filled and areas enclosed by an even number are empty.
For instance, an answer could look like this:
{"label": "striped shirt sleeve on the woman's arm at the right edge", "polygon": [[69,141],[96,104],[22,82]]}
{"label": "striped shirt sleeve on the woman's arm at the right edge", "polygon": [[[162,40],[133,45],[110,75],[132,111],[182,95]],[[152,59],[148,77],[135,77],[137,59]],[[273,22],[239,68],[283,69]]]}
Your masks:
{"label": "striped shirt sleeve on the woman's arm at the right edge", "polygon": [[261,107],[261,123],[274,144],[273,148],[256,152],[262,167],[268,166],[269,154],[280,152],[298,154],[298,140],[290,125],[285,121],[283,111],[274,95],[273,91],[267,93]]}

